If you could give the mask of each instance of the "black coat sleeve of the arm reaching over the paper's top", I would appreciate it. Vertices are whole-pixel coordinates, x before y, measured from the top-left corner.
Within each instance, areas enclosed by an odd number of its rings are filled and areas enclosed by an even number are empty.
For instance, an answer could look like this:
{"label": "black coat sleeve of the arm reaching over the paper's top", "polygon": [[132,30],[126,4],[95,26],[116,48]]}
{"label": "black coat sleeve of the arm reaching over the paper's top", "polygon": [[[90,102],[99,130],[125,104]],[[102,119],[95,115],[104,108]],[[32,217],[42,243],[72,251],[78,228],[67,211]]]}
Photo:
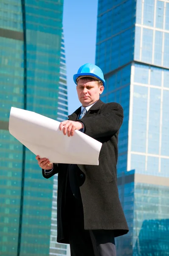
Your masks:
{"label": "black coat sleeve of the arm reaching over the paper's top", "polygon": [[123,108],[112,102],[104,104],[96,116],[83,117],[77,120],[85,126],[85,134],[92,138],[113,136],[123,123]]}

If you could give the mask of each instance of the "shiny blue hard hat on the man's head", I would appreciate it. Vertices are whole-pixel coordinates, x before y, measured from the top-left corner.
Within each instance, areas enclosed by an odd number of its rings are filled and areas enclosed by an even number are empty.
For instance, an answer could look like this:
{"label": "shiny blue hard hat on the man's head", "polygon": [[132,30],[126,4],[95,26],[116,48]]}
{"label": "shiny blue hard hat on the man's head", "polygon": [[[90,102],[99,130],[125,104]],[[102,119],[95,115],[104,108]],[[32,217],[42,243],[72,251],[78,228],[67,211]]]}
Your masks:
{"label": "shiny blue hard hat on the man's head", "polygon": [[73,80],[75,84],[77,84],[76,80],[79,76],[93,76],[94,78],[101,80],[103,82],[103,86],[105,86],[103,72],[98,66],[94,64],[86,63],[79,68],[79,70],[77,71],[77,74],[73,76]]}

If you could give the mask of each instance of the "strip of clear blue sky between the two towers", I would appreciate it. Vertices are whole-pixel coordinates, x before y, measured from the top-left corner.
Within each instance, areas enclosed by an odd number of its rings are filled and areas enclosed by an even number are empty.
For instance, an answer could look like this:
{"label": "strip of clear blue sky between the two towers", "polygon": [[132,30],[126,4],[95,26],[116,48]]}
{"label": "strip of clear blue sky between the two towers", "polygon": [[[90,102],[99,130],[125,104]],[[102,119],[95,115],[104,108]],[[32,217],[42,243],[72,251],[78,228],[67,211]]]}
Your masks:
{"label": "strip of clear blue sky between the two towers", "polygon": [[77,97],[73,75],[83,64],[95,63],[97,6],[98,0],[64,0],[63,28],[69,114],[81,105]]}

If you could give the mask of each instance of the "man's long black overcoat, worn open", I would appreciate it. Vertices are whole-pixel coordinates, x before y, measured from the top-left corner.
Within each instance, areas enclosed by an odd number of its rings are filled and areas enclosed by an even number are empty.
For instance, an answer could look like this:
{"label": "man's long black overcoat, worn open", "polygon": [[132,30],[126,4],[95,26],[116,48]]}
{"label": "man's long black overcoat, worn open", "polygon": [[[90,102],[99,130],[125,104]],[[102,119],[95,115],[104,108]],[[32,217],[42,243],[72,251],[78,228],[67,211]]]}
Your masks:
{"label": "man's long black overcoat, worn open", "polygon": [[[76,121],[80,111],[81,107],[68,116],[69,120]],[[102,143],[99,166],[78,165],[85,177],[80,186],[85,230],[114,230],[115,237],[124,235],[129,229],[118,196],[116,170],[118,133],[123,122],[123,108],[118,103],[105,104],[99,100],[77,121],[85,125],[85,134]],[[44,175],[42,170],[45,178],[56,173],[57,241],[69,243],[64,219],[68,164],[54,165],[54,171],[50,175]]]}

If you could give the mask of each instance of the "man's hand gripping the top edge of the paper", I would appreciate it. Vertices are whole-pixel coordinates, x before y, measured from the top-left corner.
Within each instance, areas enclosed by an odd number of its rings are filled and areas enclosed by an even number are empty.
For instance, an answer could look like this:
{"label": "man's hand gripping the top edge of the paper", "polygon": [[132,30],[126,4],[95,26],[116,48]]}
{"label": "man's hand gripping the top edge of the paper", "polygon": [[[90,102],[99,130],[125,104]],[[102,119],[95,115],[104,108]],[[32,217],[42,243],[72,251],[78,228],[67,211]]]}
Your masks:
{"label": "man's hand gripping the top edge of the paper", "polygon": [[73,136],[75,130],[80,130],[83,128],[83,124],[81,122],[74,122],[74,121],[63,121],[59,125],[60,131],[63,131],[63,134],[68,134],[68,137]]}

